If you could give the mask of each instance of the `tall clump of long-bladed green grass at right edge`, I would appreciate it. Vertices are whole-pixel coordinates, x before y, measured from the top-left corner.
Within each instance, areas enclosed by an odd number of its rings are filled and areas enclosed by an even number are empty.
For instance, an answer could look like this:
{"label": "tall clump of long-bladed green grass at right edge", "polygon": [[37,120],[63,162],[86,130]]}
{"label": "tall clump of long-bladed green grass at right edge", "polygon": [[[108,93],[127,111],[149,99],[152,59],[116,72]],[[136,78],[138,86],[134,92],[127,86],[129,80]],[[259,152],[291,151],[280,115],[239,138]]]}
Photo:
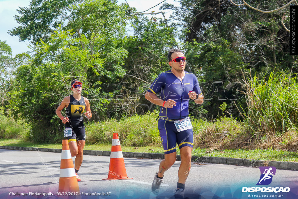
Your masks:
{"label": "tall clump of long-bladed green grass at right edge", "polygon": [[271,72],[266,77],[257,74],[244,81],[247,109],[243,113],[247,123],[246,142],[260,141],[265,135],[282,135],[297,130],[297,74]]}

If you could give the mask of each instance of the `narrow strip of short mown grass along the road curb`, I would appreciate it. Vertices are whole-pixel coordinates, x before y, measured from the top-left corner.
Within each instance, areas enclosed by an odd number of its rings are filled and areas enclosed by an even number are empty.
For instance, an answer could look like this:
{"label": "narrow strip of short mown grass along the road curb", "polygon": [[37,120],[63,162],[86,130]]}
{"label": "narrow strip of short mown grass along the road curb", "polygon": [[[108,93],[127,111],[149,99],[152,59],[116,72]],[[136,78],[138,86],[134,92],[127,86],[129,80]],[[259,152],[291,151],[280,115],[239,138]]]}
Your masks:
{"label": "narrow strip of short mown grass along the road curb", "polygon": [[[61,149],[61,144],[34,144],[31,142],[24,142],[18,139],[0,139],[0,146],[23,146],[23,147],[39,147]],[[163,153],[161,145],[151,146],[121,146],[123,152],[145,152],[145,153]],[[100,150],[111,151],[111,144],[91,144],[84,147],[85,150]],[[179,155],[179,149],[177,150]],[[213,150],[210,148],[194,148],[193,154],[195,156],[209,156],[209,157],[226,157],[226,158],[244,158],[263,161],[290,161],[298,162],[297,151],[284,151],[274,149],[226,149]]]}

